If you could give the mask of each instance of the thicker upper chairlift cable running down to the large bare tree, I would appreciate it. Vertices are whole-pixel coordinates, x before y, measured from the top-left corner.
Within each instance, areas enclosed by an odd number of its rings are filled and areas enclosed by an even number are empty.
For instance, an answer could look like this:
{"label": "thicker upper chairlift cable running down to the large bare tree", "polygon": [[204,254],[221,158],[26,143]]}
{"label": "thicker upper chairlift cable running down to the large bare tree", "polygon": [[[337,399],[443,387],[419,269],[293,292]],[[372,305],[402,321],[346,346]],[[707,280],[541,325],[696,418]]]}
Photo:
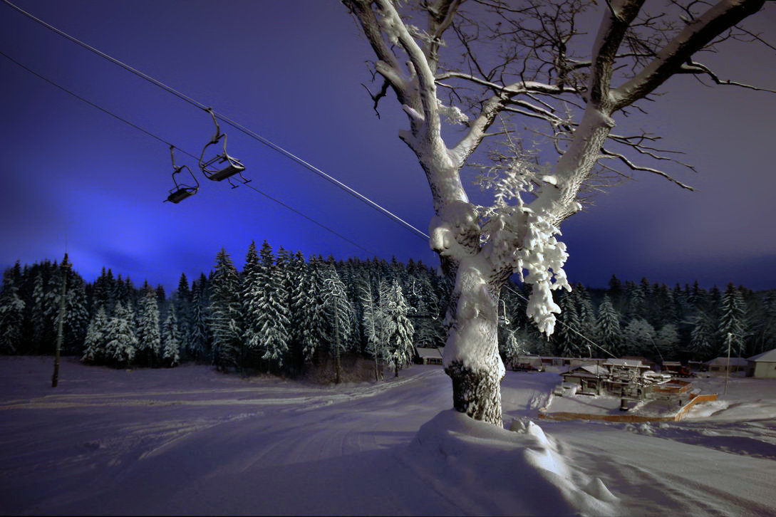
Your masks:
{"label": "thicker upper chairlift cable running down to the large bare tree", "polygon": [[[130,65],[123,63],[120,60],[117,60],[115,57],[109,56],[108,54],[102,52],[101,50],[95,49],[95,47],[88,45],[88,43],[84,43],[83,41],[78,40],[74,36],[71,36],[68,33],[64,33],[60,29],[57,29],[57,27],[54,27],[47,22],[44,22],[42,19],[37,18],[36,16],[34,16],[33,14],[30,14],[29,12],[26,12],[24,9],[21,9],[19,6],[12,4],[11,2],[9,2],[9,0],[2,0],[2,2],[5,3],[6,5],[9,5],[9,7],[11,7],[12,9],[16,9],[16,11],[22,13],[24,16],[27,16],[29,19],[32,19],[33,21],[40,23],[40,25],[46,27],[47,29],[54,31],[54,33],[57,33],[60,36],[66,38],[67,40],[70,40],[71,42],[76,43],[81,47],[84,47],[86,50],[92,51],[93,53],[97,54],[99,57],[109,60],[111,63],[122,67],[126,71],[130,71],[131,73],[137,75],[139,78],[143,78],[144,80],[151,82],[151,84],[154,84],[159,88],[162,88],[163,90],[168,91],[168,93],[175,95],[176,97],[182,99],[185,102],[188,102],[191,105],[196,106],[199,109],[208,111],[209,107],[204,105],[202,102],[199,102],[196,99],[191,98],[188,95],[185,95],[178,90],[175,90],[175,88],[171,88],[167,84],[152,78],[148,74],[144,74],[143,72],[137,70],[137,68],[131,67]],[[336,185],[338,188],[341,188],[341,190],[359,199],[359,201],[362,201],[366,205],[371,206],[373,209],[376,209],[378,212],[382,212],[384,215],[388,215],[391,219],[393,219],[396,222],[399,222],[402,226],[406,227],[407,229],[410,229],[412,232],[416,233],[417,235],[424,237],[424,239],[429,239],[429,236],[427,233],[424,233],[420,229],[415,228],[409,222],[405,221],[404,219],[401,219],[398,215],[394,214],[393,212],[390,212],[390,210],[388,209],[383,208],[383,206],[378,205],[376,202],[373,202],[365,195],[362,195],[359,191],[355,191],[353,188],[348,187],[347,184],[342,183],[341,181],[339,181],[337,178],[334,178],[330,174],[326,174],[324,171],[321,171],[318,167],[315,167],[313,164],[310,164],[309,162],[303,160],[300,157],[297,157],[295,154],[291,153],[289,150],[282,148],[276,143],[273,143],[272,141],[267,140],[265,137],[259,135],[258,133],[255,133],[255,131],[251,129],[248,129],[247,127],[243,126],[239,122],[235,122],[234,120],[231,120],[227,118],[227,116],[221,115],[218,112],[213,112],[213,113],[223,122],[226,122],[230,126],[234,127],[234,129],[241,131],[242,133],[250,136],[252,139],[258,140],[258,142],[265,144],[265,146],[268,146],[272,150],[275,150],[278,153],[281,153],[282,155],[284,155],[285,157],[295,161],[297,164],[300,164],[301,166],[307,168],[309,171],[314,172],[315,174],[319,175],[321,178],[324,178],[325,180]]]}

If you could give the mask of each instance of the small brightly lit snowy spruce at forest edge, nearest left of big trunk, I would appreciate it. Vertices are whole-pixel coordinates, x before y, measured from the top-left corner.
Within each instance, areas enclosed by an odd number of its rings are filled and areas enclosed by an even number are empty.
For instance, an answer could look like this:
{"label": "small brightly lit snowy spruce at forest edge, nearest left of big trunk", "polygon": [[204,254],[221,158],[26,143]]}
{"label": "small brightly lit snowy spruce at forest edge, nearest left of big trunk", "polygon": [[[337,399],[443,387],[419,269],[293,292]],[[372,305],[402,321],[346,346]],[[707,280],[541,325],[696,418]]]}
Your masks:
{"label": "small brightly lit snowy spruce at forest edge, nearest left of big trunk", "polygon": [[393,371],[396,377],[399,371],[412,363],[415,355],[412,336],[414,328],[407,318],[409,305],[404,298],[401,286],[393,280],[383,302],[383,339],[390,350]]}

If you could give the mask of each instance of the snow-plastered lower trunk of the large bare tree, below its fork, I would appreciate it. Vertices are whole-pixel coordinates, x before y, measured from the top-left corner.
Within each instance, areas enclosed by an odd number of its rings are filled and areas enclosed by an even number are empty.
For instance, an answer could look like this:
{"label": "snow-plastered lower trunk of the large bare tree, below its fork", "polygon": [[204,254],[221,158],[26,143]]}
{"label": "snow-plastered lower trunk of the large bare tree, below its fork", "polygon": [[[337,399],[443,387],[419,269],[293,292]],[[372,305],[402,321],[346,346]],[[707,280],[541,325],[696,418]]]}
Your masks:
{"label": "snow-plastered lower trunk of the large bare tree, below its fork", "polygon": [[501,379],[505,371],[497,338],[501,286],[483,277],[482,265],[465,259],[458,267],[448,309],[445,373],[452,380],[456,411],[503,426]]}

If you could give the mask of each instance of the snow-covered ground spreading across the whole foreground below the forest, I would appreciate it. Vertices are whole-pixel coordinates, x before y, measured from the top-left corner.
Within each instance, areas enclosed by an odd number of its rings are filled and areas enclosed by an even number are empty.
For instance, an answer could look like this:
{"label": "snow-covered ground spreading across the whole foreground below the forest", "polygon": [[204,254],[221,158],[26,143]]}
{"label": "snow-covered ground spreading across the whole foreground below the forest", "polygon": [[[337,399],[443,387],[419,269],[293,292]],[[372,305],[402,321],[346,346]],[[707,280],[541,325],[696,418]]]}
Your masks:
{"label": "snow-covered ground spreading across the whole foreground below the forest", "polygon": [[508,429],[449,409],[441,367],[321,387],[209,367],[0,358],[3,514],[773,515],[776,381],[698,380],[682,422],[536,419],[559,381],[507,372]]}

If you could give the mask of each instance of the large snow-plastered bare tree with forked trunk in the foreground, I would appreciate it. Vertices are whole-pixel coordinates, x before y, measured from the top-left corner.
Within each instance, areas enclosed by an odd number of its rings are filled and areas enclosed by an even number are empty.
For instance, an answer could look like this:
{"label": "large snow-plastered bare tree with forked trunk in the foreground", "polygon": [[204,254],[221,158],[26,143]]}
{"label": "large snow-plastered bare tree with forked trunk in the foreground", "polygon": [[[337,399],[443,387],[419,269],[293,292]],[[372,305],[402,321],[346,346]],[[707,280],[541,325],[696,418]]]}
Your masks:
{"label": "large snow-plastered bare tree with forked trunk in the foreground", "polygon": [[[674,2],[662,17],[642,14],[643,0],[496,0],[469,2],[466,12],[457,0],[344,3],[376,56],[374,72],[383,87],[372,96],[374,108],[388,91],[397,98],[409,126],[400,139],[431,188],[431,248],[454,286],[444,360],[453,405],[501,426],[501,287],[513,273],[532,284],[527,313],[542,332],[553,333],[559,307],[550,291],[570,290],[563,272],[566,246],[556,235],[560,223],[581,209],[581,189],[597,186],[599,160],[670,178],[626,155],[636,150],[639,157],[660,158],[660,151],[647,133],[613,132],[614,115],[674,74],[737,84],[720,80],[694,54],[757,12],[764,0]],[[577,43],[586,33],[578,29],[578,16],[594,8],[601,22],[587,53],[589,43]],[[414,25],[418,19],[427,25]],[[510,117],[520,120],[504,122]],[[460,171],[483,140],[537,119],[547,127],[535,134],[551,132],[545,143],[549,152],[557,150],[557,159],[539,166],[535,154],[522,151],[518,136],[504,136],[508,154],[495,157],[480,178],[494,193],[493,204],[470,202]],[[443,120],[462,126],[462,136],[443,131]],[[494,122],[497,129],[491,130]]]}

